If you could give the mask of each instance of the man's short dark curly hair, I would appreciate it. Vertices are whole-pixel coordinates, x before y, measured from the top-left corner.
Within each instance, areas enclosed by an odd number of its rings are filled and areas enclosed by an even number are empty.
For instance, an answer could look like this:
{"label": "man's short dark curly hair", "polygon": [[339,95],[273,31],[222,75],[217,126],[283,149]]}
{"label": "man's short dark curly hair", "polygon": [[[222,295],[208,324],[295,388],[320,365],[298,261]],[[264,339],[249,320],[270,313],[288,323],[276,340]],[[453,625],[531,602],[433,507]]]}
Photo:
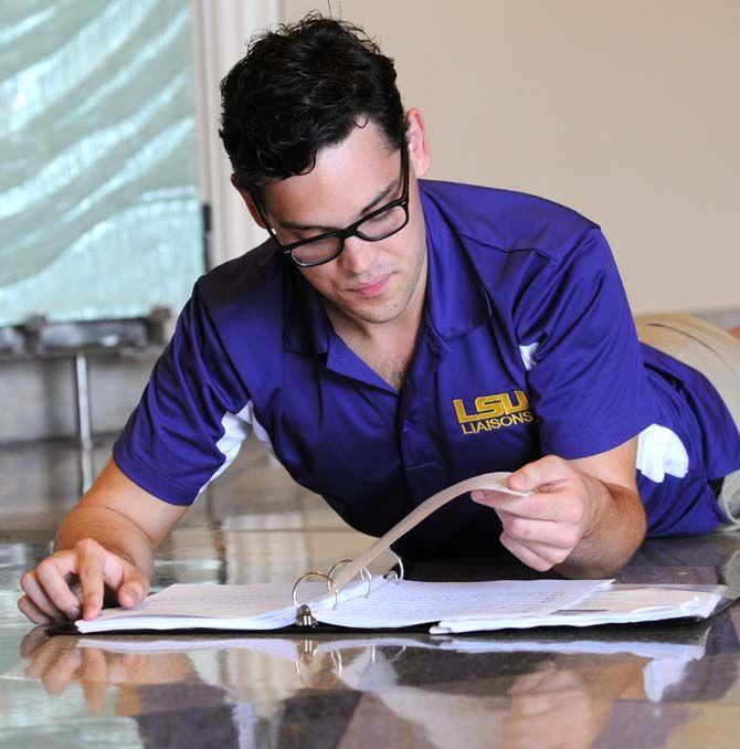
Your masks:
{"label": "man's short dark curly hair", "polygon": [[253,36],[221,82],[221,106],[234,182],[254,193],[309,172],[321,148],[367,122],[389,149],[405,143],[393,60],[359,27],[317,12]]}

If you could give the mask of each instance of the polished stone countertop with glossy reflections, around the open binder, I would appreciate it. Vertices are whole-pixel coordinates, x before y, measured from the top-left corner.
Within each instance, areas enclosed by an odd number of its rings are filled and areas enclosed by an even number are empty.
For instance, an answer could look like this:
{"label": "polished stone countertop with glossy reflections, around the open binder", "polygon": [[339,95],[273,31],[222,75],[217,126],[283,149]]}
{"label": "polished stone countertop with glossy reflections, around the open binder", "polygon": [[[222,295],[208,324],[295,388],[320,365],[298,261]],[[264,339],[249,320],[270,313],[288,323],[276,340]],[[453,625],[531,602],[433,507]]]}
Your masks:
{"label": "polished stone countertop with glossy reflections, around the open binder", "polygon": [[[0,470],[13,476],[0,487],[0,747],[737,745],[740,606],[567,632],[50,637],[18,613],[18,580],[74,503],[74,451],[4,451]],[[157,583],[288,581],[368,540],[250,446],[162,548]],[[413,577],[516,572],[420,563]],[[648,542],[621,580],[738,586],[740,535]]]}

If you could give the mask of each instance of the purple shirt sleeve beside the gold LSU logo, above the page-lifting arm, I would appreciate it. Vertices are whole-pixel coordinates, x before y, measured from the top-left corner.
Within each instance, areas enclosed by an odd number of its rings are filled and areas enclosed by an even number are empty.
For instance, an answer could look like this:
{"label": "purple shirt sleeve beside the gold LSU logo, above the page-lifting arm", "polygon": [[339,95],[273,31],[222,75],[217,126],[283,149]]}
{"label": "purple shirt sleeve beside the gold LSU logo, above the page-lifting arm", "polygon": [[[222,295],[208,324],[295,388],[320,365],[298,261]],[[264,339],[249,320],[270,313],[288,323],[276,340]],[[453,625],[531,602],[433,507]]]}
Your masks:
{"label": "purple shirt sleeve beside the gold LSU logo, above the page-lifting arm", "polygon": [[656,421],[632,313],[598,228],[540,267],[519,297],[515,324],[529,355],[543,454],[595,455]]}

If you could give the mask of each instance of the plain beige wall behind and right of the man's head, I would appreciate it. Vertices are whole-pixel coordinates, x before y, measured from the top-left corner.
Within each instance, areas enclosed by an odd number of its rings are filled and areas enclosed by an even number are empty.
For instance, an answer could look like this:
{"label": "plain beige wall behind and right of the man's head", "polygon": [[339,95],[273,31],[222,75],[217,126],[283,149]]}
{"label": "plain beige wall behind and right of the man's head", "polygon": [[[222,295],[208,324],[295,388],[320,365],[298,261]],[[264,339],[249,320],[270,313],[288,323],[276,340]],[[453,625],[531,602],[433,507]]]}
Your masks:
{"label": "plain beige wall behind and right of the man's head", "polygon": [[[341,0],[425,115],[430,177],[565,203],[635,312],[740,306],[740,2]],[[326,2],[283,0],[284,19]]]}

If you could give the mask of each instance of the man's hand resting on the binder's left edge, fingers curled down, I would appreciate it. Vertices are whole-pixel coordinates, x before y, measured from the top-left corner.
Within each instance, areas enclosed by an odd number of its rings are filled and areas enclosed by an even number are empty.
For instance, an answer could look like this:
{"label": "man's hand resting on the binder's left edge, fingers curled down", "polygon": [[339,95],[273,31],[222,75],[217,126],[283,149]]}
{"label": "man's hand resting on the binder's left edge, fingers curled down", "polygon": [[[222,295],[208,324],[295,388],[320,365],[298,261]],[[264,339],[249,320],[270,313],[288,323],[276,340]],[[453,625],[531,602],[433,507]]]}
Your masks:
{"label": "man's hand resting on the binder's left edge, fingers curled down", "polygon": [[35,624],[59,619],[95,619],[106,590],[130,609],[149,592],[149,580],[128,559],[103,548],[92,538],[56,551],[21,578],[25,595],[18,608]]}

